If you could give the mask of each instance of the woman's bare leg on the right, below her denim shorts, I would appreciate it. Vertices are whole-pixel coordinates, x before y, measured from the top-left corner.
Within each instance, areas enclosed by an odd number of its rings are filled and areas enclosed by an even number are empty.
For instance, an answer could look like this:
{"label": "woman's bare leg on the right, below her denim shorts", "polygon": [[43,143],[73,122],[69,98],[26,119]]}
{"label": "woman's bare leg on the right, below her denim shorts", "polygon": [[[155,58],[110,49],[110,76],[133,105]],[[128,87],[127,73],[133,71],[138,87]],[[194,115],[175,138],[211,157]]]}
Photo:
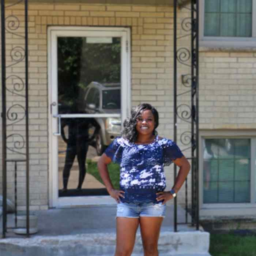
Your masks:
{"label": "woman's bare leg on the right, below her denim shorts", "polygon": [[144,256],[158,256],[157,245],[162,221],[161,217],[140,217]]}

